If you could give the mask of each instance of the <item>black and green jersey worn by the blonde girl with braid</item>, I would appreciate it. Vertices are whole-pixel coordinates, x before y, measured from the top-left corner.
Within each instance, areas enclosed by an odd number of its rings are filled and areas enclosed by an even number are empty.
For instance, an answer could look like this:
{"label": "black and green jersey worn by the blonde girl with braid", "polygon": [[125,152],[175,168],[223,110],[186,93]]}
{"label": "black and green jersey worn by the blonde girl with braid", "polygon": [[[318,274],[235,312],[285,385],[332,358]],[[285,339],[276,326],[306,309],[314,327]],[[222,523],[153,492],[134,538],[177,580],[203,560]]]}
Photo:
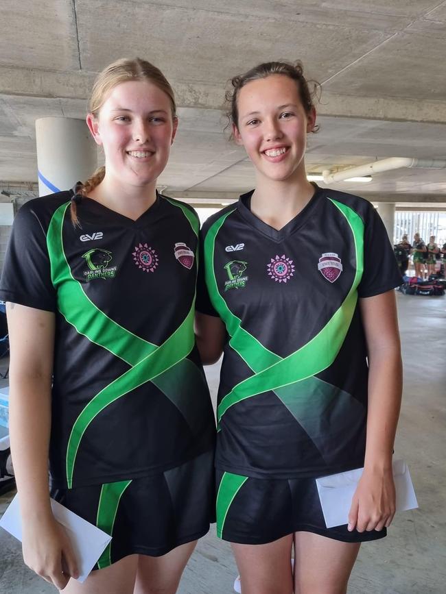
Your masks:
{"label": "black and green jersey worn by the blonde girl with braid", "polygon": [[194,343],[199,222],[157,195],[132,221],[72,192],[25,204],[0,299],[56,314],[50,471],[55,487],[138,478],[213,447]]}

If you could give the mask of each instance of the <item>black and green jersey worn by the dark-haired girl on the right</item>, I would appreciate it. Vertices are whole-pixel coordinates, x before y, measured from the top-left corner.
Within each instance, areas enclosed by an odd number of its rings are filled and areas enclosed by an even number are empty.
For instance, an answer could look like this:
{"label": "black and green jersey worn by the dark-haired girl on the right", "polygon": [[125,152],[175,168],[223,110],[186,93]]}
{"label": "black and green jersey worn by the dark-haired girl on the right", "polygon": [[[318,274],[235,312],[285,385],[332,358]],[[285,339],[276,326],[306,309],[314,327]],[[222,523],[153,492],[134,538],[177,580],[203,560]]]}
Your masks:
{"label": "black and green jersey worn by the dark-haired girl on the right", "polygon": [[368,367],[358,297],[401,284],[384,224],[368,201],[316,188],[277,231],[250,212],[251,195],[202,230],[197,308],[228,333],[216,465],[258,478],[359,467]]}

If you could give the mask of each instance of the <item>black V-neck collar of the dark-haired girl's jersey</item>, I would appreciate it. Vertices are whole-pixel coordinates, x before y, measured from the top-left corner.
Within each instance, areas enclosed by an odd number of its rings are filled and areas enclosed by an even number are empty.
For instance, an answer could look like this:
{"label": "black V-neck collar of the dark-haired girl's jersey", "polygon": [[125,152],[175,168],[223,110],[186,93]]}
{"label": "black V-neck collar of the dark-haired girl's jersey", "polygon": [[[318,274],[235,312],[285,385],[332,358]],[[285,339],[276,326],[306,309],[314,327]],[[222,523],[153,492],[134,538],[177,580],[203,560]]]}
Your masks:
{"label": "black V-neck collar of the dark-haired girl's jersey", "polygon": [[298,212],[296,216],[294,216],[291,221],[288,221],[286,225],[284,225],[281,229],[277,230],[268,223],[265,223],[261,219],[259,219],[250,209],[251,197],[253,196],[254,190],[250,190],[246,194],[242,194],[239,197],[239,201],[237,202],[237,209],[242,217],[247,221],[252,227],[254,227],[257,231],[261,232],[263,235],[266,235],[268,238],[272,239],[273,241],[279,243],[283,241],[285,238],[290,236],[292,233],[296,232],[299,227],[301,227],[312,214],[316,210],[318,203],[320,202],[320,198],[322,197],[322,189],[319,188],[316,184],[313,184],[315,187],[314,195],[311,197],[309,202],[305,205],[305,207]]}

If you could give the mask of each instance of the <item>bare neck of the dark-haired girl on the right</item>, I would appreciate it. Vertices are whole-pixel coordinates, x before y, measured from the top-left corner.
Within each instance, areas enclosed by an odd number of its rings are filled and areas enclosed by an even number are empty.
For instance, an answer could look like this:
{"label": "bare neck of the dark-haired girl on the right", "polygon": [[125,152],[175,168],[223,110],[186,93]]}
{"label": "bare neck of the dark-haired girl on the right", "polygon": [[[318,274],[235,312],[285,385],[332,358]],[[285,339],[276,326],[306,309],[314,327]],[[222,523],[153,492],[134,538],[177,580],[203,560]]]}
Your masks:
{"label": "bare neck of the dark-haired girl on the right", "polygon": [[281,230],[307,206],[314,191],[306,177],[298,182],[262,180],[251,198],[251,212],[264,223]]}

